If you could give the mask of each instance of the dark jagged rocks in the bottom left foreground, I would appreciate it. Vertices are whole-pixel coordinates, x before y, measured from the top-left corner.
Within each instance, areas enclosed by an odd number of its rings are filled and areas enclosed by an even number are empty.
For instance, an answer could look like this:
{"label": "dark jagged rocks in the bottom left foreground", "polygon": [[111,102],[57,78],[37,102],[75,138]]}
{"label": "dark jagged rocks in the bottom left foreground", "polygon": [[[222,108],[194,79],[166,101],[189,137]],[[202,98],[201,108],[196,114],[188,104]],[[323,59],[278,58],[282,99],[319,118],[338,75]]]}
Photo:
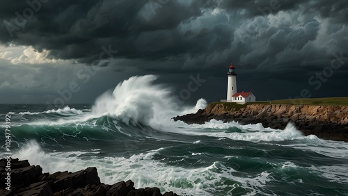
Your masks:
{"label": "dark jagged rocks in the bottom left foreground", "polygon": [[[125,195],[160,196],[159,188],[134,188],[134,182],[120,181],[113,185],[100,183],[97,168],[87,168],[78,172],[43,173],[40,165],[30,165],[28,161],[10,160],[10,171],[6,170],[8,160],[0,160],[0,195]],[[10,172],[10,179],[8,177]],[[8,188],[10,186],[10,188]],[[8,190],[10,189],[10,190]],[[166,192],[164,196],[176,195]]]}

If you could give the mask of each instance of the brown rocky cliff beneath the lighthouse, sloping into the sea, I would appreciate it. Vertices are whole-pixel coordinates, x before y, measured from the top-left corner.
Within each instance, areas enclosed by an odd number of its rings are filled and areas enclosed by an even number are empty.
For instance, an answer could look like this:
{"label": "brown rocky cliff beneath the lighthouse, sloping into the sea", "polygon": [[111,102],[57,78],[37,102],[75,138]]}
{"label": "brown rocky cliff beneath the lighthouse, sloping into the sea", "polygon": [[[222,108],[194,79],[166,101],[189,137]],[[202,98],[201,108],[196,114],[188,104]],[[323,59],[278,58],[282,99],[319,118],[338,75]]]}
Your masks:
{"label": "brown rocky cliff beneath the lighthouse, sloping into the sea", "polygon": [[285,129],[292,122],[305,136],[348,142],[348,106],[249,104],[236,107],[230,103],[213,103],[195,114],[173,119],[187,124],[204,124],[212,119],[240,124],[262,123],[272,129]]}

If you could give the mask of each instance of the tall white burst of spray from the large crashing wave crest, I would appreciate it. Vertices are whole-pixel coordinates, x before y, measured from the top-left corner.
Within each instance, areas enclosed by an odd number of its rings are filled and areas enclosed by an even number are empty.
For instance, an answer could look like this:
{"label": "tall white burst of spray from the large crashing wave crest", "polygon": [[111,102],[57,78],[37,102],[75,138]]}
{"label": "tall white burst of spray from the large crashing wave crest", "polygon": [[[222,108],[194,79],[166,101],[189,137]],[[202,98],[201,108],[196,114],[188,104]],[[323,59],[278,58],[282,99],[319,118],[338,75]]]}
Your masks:
{"label": "tall white burst of spray from the large crashing wave crest", "polygon": [[207,106],[207,101],[199,99],[194,108],[182,108],[171,90],[153,84],[156,79],[157,76],[145,75],[122,81],[113,92],[105,92],[97,98],[93,115],[108,115],[127,124],[157,127],[168,123],[175,115],[196,112]]}

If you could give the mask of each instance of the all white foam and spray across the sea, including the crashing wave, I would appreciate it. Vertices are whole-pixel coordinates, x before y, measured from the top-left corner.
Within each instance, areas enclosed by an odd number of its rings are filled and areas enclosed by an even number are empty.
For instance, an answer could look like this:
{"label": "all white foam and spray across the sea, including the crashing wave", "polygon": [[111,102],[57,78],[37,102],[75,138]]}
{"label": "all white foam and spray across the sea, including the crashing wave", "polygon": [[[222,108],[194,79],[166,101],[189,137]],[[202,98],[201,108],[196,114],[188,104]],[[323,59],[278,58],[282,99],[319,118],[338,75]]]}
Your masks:
{"label": "all white foam and spray across the sea, including the crashing wave", "polygon": [[[163,131],[173,131],[181,134],[195,136],[209,136],[225,140],[244,140],[251,142],[282,142],[293,140],[289,147],[308,149],[319,154],[332,156],[335,158],[347,158],[348,147],[344,142],[333,142],[320,140],[316,136],[303,136],[292,124],[288,124],[285,130],[264,128],[262,124],[240,125],[237,122],[223,123],[218,120],[211,120],[205,124],[185,124],[184,122],[173,122],[171,117],[185,113],[194,113],[200,108],[204,108],[206,101],[199,99],[196,106],[180,108],[177,100],[171,96],[170,90],[161,85],[152,85],[155,76],[136,76],[120,83],[113,92],[106,92],[95,102],[91,111],[76,110],[65,107],[63,109],[45,111],[42,113],[58,113],[64,115],[61,119],[49,121],[33,122],[33,124],[82,124],[86,126],[96,126],[97,118],[102,115],[109,115],[117,120],[109,120],[108,123],[120,131],[118,125],[120,120],[125,123],[150,125],[155,129]],[[85,113],[84,113],[85,111]],[[35,113],[22,113],[31,115]],[[111,131],[110,127],[104,126],[102,129]],[[115,131],[115,130],[113,130]],[[120,131],[122,132],[122,131]],[[123,132],[122,132],[123,133]],[[132,136],[129,133],[124,133]],[[155,138],[150,137],[148,138]],[[51,138],[55,140],[55,138]],[[86,138],[88,139],[88,138]],[[203,140],[191,140],[187,143],[195,146],[204,145]],[[165,140],[165,139],[161,139]],[[184,142],[171,140],[172,142]],[[276,142],[273,142],[276,141]],[[289,142],[283,142],[289,143]],[[127,179],[132,179],[137,188],[147,186],[157,186],[161,190],[173,190],[180,195],[212,195],[221,190],[221,193],[232,195],[235,188],[248,190],[246,195],[267,195],[262,188],[267,186],[269,181],[273,181],[271,172],[259,172],[258,174],[241,175],[240,172],[231,167],[214,162],[212,165],[203,168],[182,168],[168,164],[164,159],[156,160],[157,155],[164,150],[159,148],[151,151],[144,151],[131,156],[106,156],[100,157],[101,149],[86,149],[83,151],[72,152],[44,152],[37,142],[28,142],[26,145],[13,154],[19,159],[28,159],[32,165],[41,165],[43,172],[56,172],[58,170],[70,170],[75,172],[87,167],[97,167],[98,174],[104,183],[116,183]],[[92,148],[92,147],[91,147]],[[85,154],[88,154],[86,161]],[[90,156],[93,154],[93,156]],[[191,156],[203,156],[204,152],[189,152]],[[95,155],[95,156],[94,156]],[[226,156],[228,158],[230,156]],[[296,168],[297,165],[291,161],[285,161],[281,168]],[[312,166],[310,169],[317,172],[331,181],[348,183],[345,177],[345,170],[348,165],[333,166]],[[235,184],[225,184],[226,179],[236,182]],[[301,179],[299,179],[301,181]],[[270,194],[271,195],[271,194]]]}

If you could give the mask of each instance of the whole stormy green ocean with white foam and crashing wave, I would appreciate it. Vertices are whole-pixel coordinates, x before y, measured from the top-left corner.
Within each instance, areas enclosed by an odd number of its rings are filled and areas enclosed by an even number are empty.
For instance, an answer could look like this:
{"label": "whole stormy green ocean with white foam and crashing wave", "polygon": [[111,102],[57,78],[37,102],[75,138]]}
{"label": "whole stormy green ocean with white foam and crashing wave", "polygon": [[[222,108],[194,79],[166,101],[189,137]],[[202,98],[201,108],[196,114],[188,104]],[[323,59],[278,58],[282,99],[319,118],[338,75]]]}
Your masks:
{"label": "whole stormy green ocean with white foam and crashing wave", "polygon": [[179,195],[348,195],[346,142],[262,124],[174,122],[207,104],[183,106],[156,76],[135,76],[94,104],[1,104],[1,157],[10,115],[13,158],[43,172],[96,167],[102,183]]}

